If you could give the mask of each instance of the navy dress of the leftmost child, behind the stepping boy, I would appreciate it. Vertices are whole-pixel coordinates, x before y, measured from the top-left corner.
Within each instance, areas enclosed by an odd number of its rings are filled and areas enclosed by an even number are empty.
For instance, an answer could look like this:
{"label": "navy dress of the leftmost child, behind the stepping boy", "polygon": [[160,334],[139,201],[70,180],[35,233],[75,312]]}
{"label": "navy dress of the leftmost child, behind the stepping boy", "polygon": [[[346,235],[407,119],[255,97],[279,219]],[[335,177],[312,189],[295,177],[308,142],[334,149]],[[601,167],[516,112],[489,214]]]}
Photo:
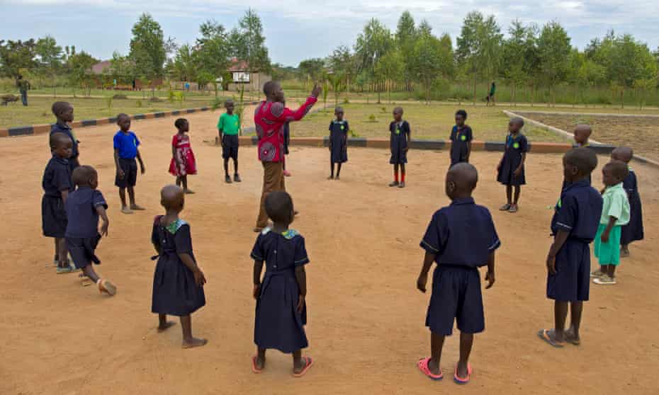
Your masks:
{"label": "navy dress of the leftmost child, behind the stepping boy", "polygon": [[67,231],[67,212],[64,210],[62,191],[73,190],[69,161],[53,155],[43,172],[41,185],[43,186],[41,199],[43,235],[63,239]]}

